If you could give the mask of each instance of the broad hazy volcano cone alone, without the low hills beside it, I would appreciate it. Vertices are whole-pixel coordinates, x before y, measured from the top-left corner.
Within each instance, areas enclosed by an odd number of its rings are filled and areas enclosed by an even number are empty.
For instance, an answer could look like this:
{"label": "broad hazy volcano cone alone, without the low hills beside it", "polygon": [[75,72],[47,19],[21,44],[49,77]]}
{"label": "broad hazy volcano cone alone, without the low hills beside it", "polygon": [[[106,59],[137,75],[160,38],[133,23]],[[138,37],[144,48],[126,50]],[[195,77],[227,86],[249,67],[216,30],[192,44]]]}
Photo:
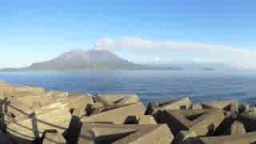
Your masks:
{"label": "broad hazy volcano cone alone, without the low hills beside it", "polygon": [[46,62],[33,63],[28,70],[140,69],[106,50],[72,50]]}

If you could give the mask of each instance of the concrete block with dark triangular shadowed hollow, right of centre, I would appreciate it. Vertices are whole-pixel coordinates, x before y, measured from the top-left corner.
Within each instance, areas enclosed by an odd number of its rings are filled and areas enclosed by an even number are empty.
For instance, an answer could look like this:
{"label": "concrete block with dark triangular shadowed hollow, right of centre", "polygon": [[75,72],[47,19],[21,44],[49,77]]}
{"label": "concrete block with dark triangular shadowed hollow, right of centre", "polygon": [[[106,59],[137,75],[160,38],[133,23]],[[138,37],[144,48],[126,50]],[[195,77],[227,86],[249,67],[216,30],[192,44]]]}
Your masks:
{"label": "concrete block with dark triangular shadowed hollow, right of centre", "polygon": [[165,110],[162,122],[166,122],[174,135],[181,130],[192,130],[198,136],[213,134],[224,120],[222,110]]}

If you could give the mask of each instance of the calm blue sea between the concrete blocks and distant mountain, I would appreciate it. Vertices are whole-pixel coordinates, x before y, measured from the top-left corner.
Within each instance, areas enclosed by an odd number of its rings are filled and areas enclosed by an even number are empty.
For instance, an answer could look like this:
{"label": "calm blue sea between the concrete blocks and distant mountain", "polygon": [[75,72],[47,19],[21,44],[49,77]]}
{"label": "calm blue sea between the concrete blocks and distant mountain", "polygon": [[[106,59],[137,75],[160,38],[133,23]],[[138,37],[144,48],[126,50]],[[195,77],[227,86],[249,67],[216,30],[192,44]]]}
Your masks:
{"label": "calm blue sea between the concrete blocks and distant mountain", "polygon": [[193,102],[237,99],[256,104],[256,74],[232,71],[2,72],[0,81],[90,94],[136,93],[142,102],[188,96]]}

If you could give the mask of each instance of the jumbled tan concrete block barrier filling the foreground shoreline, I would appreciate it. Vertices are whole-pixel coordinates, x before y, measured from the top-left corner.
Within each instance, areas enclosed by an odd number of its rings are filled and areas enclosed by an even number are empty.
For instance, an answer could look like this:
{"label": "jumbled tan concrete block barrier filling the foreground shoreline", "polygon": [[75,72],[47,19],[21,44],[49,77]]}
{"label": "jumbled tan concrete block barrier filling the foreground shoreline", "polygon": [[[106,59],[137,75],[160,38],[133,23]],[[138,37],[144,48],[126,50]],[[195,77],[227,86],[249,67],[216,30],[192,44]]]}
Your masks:
{"label": "jumbled tan concrete block barrier filling the foreground shoreline", "polygon": [[150,102],[136,94],[70,94],[0,82],[4,144],[250,144],[256,107],[234,100]]}

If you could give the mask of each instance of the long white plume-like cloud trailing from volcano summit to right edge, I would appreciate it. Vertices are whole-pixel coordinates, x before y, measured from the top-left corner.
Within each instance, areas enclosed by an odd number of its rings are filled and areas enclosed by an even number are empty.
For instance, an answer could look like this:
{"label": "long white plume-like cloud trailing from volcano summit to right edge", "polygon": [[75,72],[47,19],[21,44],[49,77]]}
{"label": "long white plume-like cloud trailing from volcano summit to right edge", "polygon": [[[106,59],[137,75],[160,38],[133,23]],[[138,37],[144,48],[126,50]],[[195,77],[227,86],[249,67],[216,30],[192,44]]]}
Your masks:
{"label": "long white plume-like cloud trailing from volcano summit to right edge", "polygon": [[[256,51],[245,50],[239,47],[212,45],[200,42],[177,42],[177,41],[156,41],[142,38],[121,38],[114,40],[103,38],[98,40],[95,45],[97,50],[123,50],[123,49],[139,49],[139,50],[156,50],[172,53],[180,51],[191,53],[191,60],[200,59],[206,62],[222,62],[230,66],[239,67],[242,69],[256,70]],[[156,56],[159,57],[159,56]],[[187,58],[186,58],[187,59]]]}

